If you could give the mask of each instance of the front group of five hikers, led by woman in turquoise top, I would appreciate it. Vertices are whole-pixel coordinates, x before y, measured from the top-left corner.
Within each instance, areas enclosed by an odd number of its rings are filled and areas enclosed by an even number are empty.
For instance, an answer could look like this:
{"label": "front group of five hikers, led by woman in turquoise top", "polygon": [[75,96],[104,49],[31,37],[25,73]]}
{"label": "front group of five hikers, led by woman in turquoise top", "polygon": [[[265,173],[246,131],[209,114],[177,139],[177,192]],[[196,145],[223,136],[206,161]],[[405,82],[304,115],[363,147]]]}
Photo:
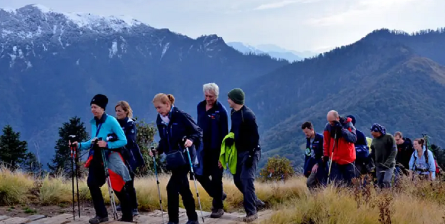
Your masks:
{"label": "front group of five hikers, led by woman in turquoise top", "polygon": [[[188,174],[198,180],[213,198],[211,218],[224,214],[223,201],[227,194],[223,190],[223,172],[229,169],[236,187],[243,194],[246,216],[244,222],[258,219],[257,211],[265,203],[255,194],[255,173],[261,157],[258,127],[254,112],[244,105],[244,92],[240,88],[228,92],[231,128],[228,112],[218,101],[219,87],[215,83],[203,85],[205,100],[197,105],[197,122],[186,112],[175,106],[171,94],[158,93],[153,105],[158,112],[156,125],[160,140],[150,156],[165,154],[166,168],[171,176],[167,184],[168,224],[179,223],[179,195],[182,196],[188,222],[198,224],[195,199],[190,190]],[[136,125],[132,109],[126,101],[115,106],[116,118],[105,109],[108,98],[95,95],[91,102],[92,138],[87,142],[69,140],[77,149],[89,149],[85,167],[89,169],[89,187],[96,216],[89,223],[108,221],[108,213],[100,187],[108,180],[116,194],[122,211],[123,222],[133,222],[138,215],[134,171],[144,166],[144,160],[136,143]],[[108,182],[107,182],[108,183]],[[196,182],[195,182],[196,185]],[[198,202],[199,195],[197,194]]]}

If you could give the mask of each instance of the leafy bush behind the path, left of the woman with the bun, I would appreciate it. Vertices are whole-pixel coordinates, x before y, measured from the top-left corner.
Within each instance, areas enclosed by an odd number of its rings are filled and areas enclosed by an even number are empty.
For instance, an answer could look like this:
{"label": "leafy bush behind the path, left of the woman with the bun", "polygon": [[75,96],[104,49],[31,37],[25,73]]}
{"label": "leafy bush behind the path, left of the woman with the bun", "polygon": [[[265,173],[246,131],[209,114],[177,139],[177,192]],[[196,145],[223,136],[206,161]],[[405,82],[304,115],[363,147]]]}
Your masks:
{"label": "leafy bush behind the path, left of the woman with the bun", "polygon": [[[135,117],[135,119],[137,120],[137,117]],[[140,151],[142,153],[142,156],[146,164],[145,169],[142,170],[138,169],[136,170],[136,173],[139,175],[153,174],[154,173],[153,158],[149,155],[149,153],[151,147],[156,147],[154,143],[156,127],[154,126],[154,124],[147,124],[144,122],[144,120],[140,120],[136,122],[136,128],[137,128],[136,142],[137,145],[139,145]],[[166,170],[165,161],[162,161],[159,156],[156,158],[156,165],[158,173],[163,173]]]}

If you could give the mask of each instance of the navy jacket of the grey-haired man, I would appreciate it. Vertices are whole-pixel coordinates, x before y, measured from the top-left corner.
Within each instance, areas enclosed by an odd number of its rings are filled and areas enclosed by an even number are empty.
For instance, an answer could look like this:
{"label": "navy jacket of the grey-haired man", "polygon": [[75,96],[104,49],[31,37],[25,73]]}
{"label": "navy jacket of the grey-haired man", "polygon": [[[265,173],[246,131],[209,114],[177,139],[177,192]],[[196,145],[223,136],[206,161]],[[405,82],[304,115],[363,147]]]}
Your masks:
{"label": "navy jacket of the grey-haired man", "polygon": [[228,115],[224,105],[217,101],[206,111],[206,101],[198,104],[198,126],[202,129],[205,150],[214,150],[220,156],[221,144],[228,134]]}

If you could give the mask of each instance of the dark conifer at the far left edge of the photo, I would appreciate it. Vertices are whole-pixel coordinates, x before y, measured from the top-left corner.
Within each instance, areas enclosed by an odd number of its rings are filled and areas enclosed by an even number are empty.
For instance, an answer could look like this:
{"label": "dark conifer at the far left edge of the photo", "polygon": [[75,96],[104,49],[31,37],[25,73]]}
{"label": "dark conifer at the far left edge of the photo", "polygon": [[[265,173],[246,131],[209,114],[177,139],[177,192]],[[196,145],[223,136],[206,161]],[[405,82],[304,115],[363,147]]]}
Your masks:
{"label": "dark conifer at the far left edge of the photo", "polygon": [[16,169],[25,161],[28,143],[20,141],[20,132],[14,132],[10,125],[3,128],[0,136],[0,160],[11,169]]}

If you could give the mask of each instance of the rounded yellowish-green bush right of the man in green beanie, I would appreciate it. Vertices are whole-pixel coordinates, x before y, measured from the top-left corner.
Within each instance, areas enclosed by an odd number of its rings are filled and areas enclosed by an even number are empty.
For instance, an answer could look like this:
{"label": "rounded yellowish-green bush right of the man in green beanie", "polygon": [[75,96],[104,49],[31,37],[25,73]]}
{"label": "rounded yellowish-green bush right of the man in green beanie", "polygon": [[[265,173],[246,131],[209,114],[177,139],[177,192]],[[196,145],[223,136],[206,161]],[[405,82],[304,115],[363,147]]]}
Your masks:
{"label": "rounded yellowish-green bush right of the man in green beanie", "polygon": [[287,180],[295,174],[291,161],[286,157],[275,155],[267,160],[267,164],[260,171],[260,180],[279,181]]}

